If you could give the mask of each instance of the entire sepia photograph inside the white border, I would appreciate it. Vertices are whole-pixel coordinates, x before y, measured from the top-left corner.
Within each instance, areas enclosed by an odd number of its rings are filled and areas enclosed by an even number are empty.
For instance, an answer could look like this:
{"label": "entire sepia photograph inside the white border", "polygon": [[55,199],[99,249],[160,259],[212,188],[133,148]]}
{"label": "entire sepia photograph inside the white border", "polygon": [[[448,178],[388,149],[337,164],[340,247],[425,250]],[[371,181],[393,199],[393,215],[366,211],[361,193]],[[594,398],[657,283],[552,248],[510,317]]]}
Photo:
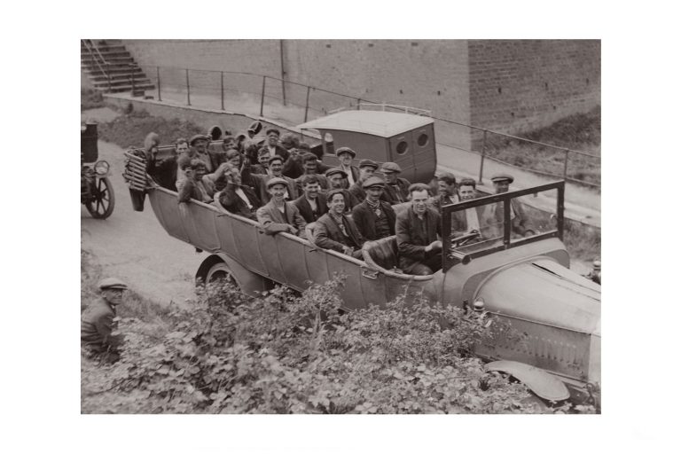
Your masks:
{"label": "entire sepia photograph inside the white border", "polygon": [[601,413],[600,39],[80,46],[82,414]]}

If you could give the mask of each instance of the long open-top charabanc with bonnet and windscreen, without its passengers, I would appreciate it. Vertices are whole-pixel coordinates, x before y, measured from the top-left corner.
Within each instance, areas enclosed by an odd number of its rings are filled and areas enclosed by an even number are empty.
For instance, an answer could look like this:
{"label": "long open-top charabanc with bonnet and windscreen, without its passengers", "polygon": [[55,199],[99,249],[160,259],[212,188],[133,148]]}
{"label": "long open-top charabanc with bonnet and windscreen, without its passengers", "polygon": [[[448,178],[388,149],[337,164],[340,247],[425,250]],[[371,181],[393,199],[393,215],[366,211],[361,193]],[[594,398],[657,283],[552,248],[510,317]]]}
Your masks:
{"label": "long open-top charabanc with bonnet and windscreen, without its passengers", "polygon": [[[170,236],[209,253],[196,271],[199,281],[226,278],[257,294],[275,285],[303,291],[340,273],[346,277],[340,289],[346,310],[383,305],[400,294],[470,307],[524,335],[521,342],[497,339],[476,348],[490,371],[513,375],[549,401],[599,399],[600,286],[569,270],[562,243],[564,182],[442,207],[442,232],[450,232],[442,235],[442,270],[414,276],[398,268],[395,236],[367,242],[358,260],[288,233],[269,235],[260,224],[226,211],[217,195],[213,203],[192,200],[180,210],[176,192],[144,174],[144,153],[137,152],[126,153],[124,176],[131,193],[148,197]],[[528,208],[534,228],[530,236],[519,235],[513,231],[512,207],[540,193],[551,193],[555,211]],[[137,197],[138,210],[140,203]],[[481,219],[495,215],[480,231],[455,233],[452,216],[466,210]]]}

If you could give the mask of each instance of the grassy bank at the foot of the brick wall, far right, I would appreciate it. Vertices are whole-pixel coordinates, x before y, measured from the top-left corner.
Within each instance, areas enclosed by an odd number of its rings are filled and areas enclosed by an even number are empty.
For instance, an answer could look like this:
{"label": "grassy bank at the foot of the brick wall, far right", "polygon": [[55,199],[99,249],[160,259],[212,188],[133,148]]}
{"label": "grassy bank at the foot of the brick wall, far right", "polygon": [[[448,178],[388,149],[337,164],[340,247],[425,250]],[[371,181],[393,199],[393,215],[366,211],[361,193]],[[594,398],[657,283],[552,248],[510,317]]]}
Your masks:
{"label": "grassy bank at the foot of the brick wall, far right", "polygon": [[[516,136],[600,156],[600,106],[586,114],[570,115],[545,128]],[[555,148],[489,134],[487,153],[521,168],[563,175],[565,153]],[[600,158],[570,153],[568,176],[600,184]]]}

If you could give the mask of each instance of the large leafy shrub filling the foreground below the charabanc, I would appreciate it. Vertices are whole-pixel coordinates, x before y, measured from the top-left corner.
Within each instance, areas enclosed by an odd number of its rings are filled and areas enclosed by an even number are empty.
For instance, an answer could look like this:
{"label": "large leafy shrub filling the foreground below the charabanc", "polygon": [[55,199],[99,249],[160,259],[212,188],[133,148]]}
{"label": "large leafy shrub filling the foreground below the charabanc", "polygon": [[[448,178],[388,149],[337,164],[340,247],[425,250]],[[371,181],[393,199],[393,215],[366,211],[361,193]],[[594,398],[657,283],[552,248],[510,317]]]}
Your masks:
{"label": "large leafy shrub filling the foreground below the charabanc", "polygon": [[[121,320],[121,360],[85,380],[85,412],[541,412],[528,391],[483,372],[472,344],[505,329],[405,297],[341,314],[336,278],[301,296],[203,289],[167,325]],[[106,373],[102,373],[106,369]],[[560,410],[562,411],[562,410]]]}

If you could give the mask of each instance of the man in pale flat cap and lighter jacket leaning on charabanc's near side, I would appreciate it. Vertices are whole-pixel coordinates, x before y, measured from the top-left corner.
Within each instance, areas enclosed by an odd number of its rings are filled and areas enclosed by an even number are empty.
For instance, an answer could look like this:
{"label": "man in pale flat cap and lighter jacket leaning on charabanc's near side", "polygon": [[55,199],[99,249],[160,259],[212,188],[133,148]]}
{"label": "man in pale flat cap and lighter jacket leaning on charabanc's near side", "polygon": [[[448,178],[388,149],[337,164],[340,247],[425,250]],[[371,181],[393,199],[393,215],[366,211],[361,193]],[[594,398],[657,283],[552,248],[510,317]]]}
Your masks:
{"label": "man in pale flat cap and lighter jacket leaning on charabanc's near side", "polygon": [[293,202],[284,199],[287,183],[284,178],[275,176],[267,182],[270,201],[255,212],[258,223],[262,224],[265,233],[274,235],[279,231],[287,231],[305,238],[305,219]]}

